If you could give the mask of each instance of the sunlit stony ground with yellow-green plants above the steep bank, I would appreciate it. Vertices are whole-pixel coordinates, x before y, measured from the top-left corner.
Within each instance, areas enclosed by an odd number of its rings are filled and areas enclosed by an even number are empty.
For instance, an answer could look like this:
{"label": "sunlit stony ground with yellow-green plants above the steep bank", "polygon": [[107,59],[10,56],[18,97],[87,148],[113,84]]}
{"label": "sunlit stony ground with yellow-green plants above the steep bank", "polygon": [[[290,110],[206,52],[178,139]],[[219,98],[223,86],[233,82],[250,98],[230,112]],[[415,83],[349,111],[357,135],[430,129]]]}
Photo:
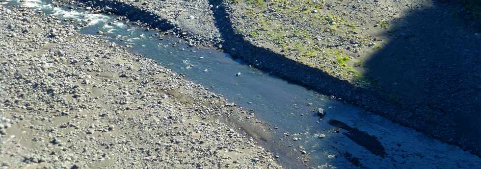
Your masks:
{"label": "sunlit stony ground with yellow-green plants above the steep bank", "polygon": [[[238,29],[251,41],[274,46],[279,52],[341,79],[356,81],[357,71],[347,50],[349,42],[371,42],[356,22],[329,12],[323,0],[234,0],[243,5],[242,15],[251,23]],[[287,23],[287,24],[286,24]],[[347,42],[347,45],[346,45]],[[349,47],[347,47],[349,48]],[[336,51],[336,52],[331,52]],[[353,52],[354,51],[354,52]],[[344,56],[338,59],[339,53]]]}

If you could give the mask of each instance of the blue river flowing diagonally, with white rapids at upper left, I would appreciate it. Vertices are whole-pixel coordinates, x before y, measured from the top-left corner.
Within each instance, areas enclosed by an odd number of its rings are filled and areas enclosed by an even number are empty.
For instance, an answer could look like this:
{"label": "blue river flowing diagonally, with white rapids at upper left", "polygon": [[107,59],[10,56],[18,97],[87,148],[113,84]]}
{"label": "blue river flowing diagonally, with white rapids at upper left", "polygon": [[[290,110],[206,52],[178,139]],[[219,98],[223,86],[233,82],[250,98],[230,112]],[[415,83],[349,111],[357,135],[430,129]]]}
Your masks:
{"label": "blue river flowing diagonally, with white rapids at upper left", "polygon": [[[479,157],[457,146],[429,138],[342,100],[291,84],[221,51],[189,48],[178,43],[181,39],[160,37],[159,32],[115,21],[114,16],[57,8],[46,1],[8,1],[4,4],[23,5],[87,23],[80,33],[97,34],[101,30],[104,38],[127,45],[223,95],[230,102],[246,110],[252,109],[258,119],[272,124],[275,137],[261,145],[278,153],[279,163],[287,167],[304,168],[295,160],[302,156],[298,148],[302,146],[309,153],[309,166],[320,169],[481,168]],[[174,42],[176,47],[172,47]],[[238,72],[240,76],[236,76]],[[318,108],[326,112],[321,120],[316,113]],[[319,138],[321,134],[325,138]],[[300,140],[294,141],[294,137]]]}

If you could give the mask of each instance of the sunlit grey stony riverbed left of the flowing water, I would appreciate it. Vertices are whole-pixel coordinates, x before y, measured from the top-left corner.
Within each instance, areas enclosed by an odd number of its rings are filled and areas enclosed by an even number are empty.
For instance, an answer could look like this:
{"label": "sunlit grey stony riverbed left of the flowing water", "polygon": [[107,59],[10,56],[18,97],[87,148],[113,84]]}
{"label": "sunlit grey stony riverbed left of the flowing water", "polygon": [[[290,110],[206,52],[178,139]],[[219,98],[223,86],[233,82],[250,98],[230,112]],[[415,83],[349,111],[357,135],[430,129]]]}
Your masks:
{"label": "sunlit grey stony riverbed left of the flowing water", "polygon": [[263,122],[182,75],[30,8],[0,21],[2,169],[281,168]]}

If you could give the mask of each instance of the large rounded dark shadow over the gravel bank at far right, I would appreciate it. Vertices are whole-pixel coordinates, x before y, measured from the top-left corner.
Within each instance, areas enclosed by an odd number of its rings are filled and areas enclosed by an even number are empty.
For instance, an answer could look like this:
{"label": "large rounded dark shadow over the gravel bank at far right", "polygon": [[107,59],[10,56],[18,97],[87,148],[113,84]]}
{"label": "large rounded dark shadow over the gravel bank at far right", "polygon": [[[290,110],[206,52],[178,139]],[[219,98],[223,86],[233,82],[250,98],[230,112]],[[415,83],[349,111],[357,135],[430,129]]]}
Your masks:
{"label": "large rounded dark shadow over the gravel bank at far right", "polygon": [[363,65],[364,75],[393,99],[407,98],[420,108],[406,117],[418,123],[415,128],[479,155],[481,36],[459,9],[434,2],[395,20],[387,44]]}

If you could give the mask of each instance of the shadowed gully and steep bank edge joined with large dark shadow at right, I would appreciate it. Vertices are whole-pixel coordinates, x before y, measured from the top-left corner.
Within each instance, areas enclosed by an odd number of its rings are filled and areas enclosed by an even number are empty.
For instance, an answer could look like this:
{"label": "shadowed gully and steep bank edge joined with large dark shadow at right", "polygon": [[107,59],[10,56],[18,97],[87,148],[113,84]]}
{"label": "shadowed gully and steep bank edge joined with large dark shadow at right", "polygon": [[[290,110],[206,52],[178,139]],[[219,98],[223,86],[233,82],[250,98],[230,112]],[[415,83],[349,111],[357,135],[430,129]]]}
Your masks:
{"label": "shadowed gully and steep bank edge joined with large dark shadow at right", "polygon": [[359,88],[244,40],[228,17],[229,6],[209,2],[222,48],[233,56],[480,155],[481,132],[474,128],[481,122],[481,39],[456,20],[453,6],[436,3],[395,21],[387,45],[364,64],[364,75],[378,87]]}

